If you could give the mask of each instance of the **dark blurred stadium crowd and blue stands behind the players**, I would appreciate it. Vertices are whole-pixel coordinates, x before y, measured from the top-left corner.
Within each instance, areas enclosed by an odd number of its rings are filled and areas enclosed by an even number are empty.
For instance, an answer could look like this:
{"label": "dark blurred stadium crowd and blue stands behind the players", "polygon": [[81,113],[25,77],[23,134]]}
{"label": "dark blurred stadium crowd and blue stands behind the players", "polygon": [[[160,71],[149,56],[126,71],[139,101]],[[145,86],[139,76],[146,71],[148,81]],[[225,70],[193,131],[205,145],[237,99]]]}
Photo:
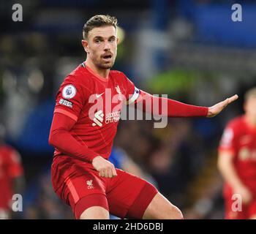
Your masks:
{"label": "dark blurred stadium crowd and blue stands behind the players", "polygon": [[[12,21],[15,3],[23,22]],[[234,3],[243,7],[242,22],[231,20]],[[48,133],[60,83],[85,60],[83,24],[96,14],[118,18],[122,42],[113,69],[143,90],[206,106],[240,95],[212,119],[170,118],[165,129],[121,121],[115,140],[118,154],[150,175],[185,218],[222,219],[219,138],[243,112],[244,91],[256,85],[256,4],[248,0],[1,0],[1,124],[26,178],[18,218],[73,219],[51,188]]]}

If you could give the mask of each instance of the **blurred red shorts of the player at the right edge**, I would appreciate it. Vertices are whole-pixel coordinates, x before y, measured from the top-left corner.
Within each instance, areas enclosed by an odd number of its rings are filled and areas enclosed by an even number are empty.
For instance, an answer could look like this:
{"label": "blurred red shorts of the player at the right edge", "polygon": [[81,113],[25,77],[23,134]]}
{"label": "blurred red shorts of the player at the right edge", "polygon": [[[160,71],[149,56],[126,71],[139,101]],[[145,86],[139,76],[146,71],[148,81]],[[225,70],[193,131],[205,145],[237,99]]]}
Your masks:
{"label": "blurred red shorts of the player at the right edge", "polygon": [[232,189],[226,187],[224,199],[225,219],[250,219],[256,215],[256,195],[250,203],[242,203],[241,207],[238,208],[237,199],[233,197]]}

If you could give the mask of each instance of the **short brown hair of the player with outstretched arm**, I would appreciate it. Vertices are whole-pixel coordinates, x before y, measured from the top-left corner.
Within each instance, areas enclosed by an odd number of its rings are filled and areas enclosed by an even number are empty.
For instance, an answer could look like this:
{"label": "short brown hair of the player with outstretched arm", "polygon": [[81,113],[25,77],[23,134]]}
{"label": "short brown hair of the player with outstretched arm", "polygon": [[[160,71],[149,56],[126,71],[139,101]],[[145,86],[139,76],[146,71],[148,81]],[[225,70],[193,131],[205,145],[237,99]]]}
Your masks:
{"label": "short brown hair of the player with outstretched arm", "polygon": [[94,15],[90,18],[83,26],[83,39],[87,39],[89,31],[91,29],[101,27],[101,26],[114,26],[117,27],[116,17],[110,15]]}

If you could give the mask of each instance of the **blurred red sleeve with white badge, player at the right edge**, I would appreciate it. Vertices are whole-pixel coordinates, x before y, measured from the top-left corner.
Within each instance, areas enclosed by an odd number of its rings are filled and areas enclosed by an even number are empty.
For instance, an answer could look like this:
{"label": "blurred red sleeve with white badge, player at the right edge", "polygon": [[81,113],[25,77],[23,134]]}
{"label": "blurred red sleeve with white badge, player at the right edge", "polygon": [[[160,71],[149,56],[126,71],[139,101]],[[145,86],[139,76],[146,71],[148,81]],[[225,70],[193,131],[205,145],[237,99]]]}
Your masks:
{"label": "blurred red sleeve with white badge, player at the right edge", "polygon": [[227,124],[219,143],[219,151],[235,151],[236,126],[233,123]]}

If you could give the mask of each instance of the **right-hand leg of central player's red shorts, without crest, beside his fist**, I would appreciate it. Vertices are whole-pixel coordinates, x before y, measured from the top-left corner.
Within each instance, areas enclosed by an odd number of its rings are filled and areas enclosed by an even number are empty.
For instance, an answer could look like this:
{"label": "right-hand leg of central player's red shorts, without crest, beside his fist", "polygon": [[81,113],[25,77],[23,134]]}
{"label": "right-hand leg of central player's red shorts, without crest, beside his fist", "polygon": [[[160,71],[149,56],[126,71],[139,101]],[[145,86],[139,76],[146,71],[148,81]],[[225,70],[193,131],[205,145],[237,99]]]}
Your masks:
{"label": "right-hand leg of central player's red shorts, without crest, beside his fist", "polygon": [[120,218],[142,219],[157,189],[147,181],[116,169],[118,176],[111,178],[107,191],[110,214]]}

